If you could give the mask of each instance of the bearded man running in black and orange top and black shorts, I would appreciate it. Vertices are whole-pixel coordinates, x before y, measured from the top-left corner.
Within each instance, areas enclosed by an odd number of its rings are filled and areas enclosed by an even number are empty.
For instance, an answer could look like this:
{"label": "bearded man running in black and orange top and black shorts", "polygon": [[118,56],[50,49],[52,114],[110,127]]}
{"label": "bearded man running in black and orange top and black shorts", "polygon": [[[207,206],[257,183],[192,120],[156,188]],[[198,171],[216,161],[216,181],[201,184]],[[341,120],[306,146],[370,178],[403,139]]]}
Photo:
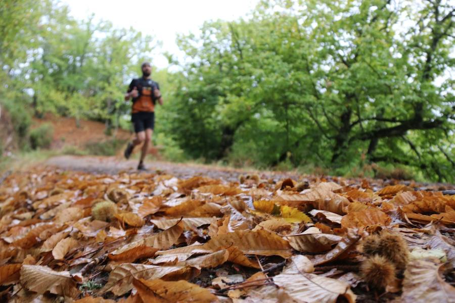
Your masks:
{"label": "bearded man running in black and orange top and black shorts", "polygon": [[134,125],[136,137],[128,143],[124,156],[128,159],[134,146],[143,143],[141,149],[141,159],[139,160],[138,170],[146,170],[144,159],[151,144],[153,129],[155,126],[155,104],[156,101],[163,105],[160,86],[151,79],[152,66],[149,62],[141,65],[142,77],[133,79],[129,84],[125,94],[125,100],[132,98],[131,122]]}

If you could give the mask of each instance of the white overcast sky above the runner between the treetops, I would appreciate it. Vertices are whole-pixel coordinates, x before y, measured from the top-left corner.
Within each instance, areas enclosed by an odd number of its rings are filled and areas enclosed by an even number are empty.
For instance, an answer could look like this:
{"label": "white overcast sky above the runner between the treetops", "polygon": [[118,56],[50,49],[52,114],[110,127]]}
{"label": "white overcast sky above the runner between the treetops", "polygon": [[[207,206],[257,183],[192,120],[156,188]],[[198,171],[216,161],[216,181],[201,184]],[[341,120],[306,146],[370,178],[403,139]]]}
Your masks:
{"label": "white overcast sky above the runner between the treetops", "polygon": [[109,20],[116,27],[129,28],[155,36],[163,42],[153,64],[164,68],[164,51],[178,53],[177,33],[196,32],[207,20],[235,20],[247,15],[258,0],[61,0],[71,9],[71,15],[84,19],[94,13],[98,19]]}

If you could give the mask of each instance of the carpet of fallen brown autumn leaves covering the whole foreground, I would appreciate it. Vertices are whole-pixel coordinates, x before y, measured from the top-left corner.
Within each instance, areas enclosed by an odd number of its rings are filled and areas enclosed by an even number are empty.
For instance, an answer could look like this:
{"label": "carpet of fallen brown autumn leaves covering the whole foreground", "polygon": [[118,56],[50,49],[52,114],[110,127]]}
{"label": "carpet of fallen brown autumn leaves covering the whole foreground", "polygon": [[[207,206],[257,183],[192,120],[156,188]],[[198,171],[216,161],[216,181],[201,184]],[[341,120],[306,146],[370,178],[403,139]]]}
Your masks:
{"label": "carpet of fallen brown autumn leaves covering the whole foreground", "polygon": [[4,301],[455,301],[455,197],[35,167],[0,186]]}

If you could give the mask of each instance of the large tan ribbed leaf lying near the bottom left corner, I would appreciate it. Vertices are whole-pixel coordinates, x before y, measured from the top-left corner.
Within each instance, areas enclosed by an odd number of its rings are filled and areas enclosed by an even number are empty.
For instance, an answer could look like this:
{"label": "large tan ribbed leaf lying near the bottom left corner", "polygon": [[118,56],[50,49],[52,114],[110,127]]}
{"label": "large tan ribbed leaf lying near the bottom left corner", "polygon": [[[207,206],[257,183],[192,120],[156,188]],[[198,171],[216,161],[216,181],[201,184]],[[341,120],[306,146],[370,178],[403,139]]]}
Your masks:
{"label": "large tan ribbed leaf lying near the bottom left corner", "polygon": [[23,265],[21,268],[21,284],[28,290],[75,297],[79,294],[76,282],[68,271],[57,272],[47,266]]}

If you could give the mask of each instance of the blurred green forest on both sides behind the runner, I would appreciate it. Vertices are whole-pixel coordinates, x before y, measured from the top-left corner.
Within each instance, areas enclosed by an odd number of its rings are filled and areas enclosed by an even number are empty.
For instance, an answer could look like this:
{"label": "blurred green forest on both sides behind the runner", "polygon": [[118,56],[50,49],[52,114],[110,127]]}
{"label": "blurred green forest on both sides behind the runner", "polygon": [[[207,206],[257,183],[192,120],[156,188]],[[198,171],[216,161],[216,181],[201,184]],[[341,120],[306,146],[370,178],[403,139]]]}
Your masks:
{"label": "blurred green forest on both sides behind the runner", "polygon": [[[165,99],[154,141],[172,161],[454,183],[454,12],[442,0],[263,1],[205,22],[176,37],[184,58],[153,72]],[[48,113],[130,129],[123,93],[159,45],[56,1],[3,0],[0,106],[18,146],[46,145],[52,129],[30,124]]]}

